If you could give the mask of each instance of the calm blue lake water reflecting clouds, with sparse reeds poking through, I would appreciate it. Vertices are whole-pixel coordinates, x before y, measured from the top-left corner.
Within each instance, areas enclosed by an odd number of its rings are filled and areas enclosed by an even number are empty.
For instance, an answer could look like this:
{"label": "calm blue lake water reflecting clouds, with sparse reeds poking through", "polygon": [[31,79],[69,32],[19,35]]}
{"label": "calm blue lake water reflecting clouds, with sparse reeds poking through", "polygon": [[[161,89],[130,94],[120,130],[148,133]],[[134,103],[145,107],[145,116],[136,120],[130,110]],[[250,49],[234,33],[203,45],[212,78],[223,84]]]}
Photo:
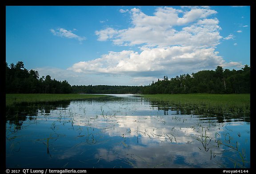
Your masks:
{"label": "calm blue lake water reflecting clouds, with sparse reeds poking through", "polygon": [[182,112],[138,95],[6,111],[7,168],[250,168],[250,117]]}

